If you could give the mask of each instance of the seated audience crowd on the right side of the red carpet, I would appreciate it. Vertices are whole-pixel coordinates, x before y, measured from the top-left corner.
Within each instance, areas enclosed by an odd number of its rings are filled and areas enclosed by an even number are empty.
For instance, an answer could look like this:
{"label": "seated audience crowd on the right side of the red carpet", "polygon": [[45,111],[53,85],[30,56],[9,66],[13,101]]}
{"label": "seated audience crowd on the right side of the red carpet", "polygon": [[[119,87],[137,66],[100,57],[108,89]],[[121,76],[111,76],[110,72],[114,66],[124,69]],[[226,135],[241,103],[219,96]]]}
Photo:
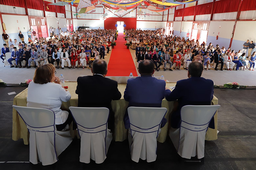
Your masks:
{"label": "seated audience crowd on the right side of the red carpet", "polygon": [[[198,40],[189,40],[184,37],[178,36],[166,36],[162,33],[161,29],[158,30],[127,30],[127,41],[131,44],[132,50],[135,50],[136,59],[138,64],[144,59],[152,60],[157,68],[160,70],[160,66],[163,65],[164,71],[166,71],[166,64],[170,64],[169,70],[181,69],[181,65],[188,70],[188,66],[193,61],[203,63],[208,68],[214,68],[218,70],[218,64],[221,64],[220,70],[223,70],[224,64],[226,64],[227,70],[232,70],[234,65],[237,64],[236,70],[240,67],[249,70],[255,68],[256,52],[252,53],[255,48],[253,41],[247,40],[242,47],[242,50],[235,52],[225,47],[216,47],[209,43],[200,44]],[[248,51],[250,66],[246,64],[246,51]],[[209,67],[210,66],[210,67]]]}

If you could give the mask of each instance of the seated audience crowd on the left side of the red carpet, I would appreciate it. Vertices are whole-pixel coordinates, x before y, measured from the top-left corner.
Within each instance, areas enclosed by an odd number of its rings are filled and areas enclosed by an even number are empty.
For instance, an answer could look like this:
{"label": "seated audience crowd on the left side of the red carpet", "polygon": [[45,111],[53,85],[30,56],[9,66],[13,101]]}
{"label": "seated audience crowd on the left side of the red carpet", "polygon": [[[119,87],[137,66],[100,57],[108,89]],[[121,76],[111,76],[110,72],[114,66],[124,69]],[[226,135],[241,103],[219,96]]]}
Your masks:
{"label": "seated audience crowd on the left side of the red carpet", "polygon": [[[52,31],[52,29],[51,29]],[[20,32],[19,35],[22,35]],[[35,38],[34,41],[25,43],[24,38],[21,42],[15,39],[8,41],[8,44],[3,44],[0,56],[4,62],[5,53],[11,52],[11,58],[8,59],[11,67],[22,68],[22,61],[26,64],[23,68],[31,68],[31,62],[34,62],[34,67],[42,64],[54,62],[57,63],[57,68],[64,69],[64,63],[67,62],[68,68],[91,68],[91,64],[95,59],[105,59],[105,55],[111,50],[111,43],[115,40],[116,31],[106,29],[80,29],[72,32],[61,32],[60,35],[51,32],[49,40],[44,37]],[[4,36],[3,36],[4,37]],[[8,35],[7,35],[7,38]],[[30,39],[30,38],[29,38]],[[12,61],[16,61],[16,66]]]}

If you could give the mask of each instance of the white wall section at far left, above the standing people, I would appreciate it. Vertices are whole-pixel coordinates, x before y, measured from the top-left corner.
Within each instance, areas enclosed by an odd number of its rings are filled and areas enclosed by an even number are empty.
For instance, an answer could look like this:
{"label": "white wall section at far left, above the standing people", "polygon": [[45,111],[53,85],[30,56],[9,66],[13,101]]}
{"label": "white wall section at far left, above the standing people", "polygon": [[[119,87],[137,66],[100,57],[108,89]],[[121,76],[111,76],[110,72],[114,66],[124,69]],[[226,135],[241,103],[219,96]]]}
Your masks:
{"label": "white wall section at far left, above the standing people", "polygon": [[[29,18],[28,16],[18,16],[18,15],[2,15],[3,22],[6,26],[6,33],[10,36],[12,40],[17,39],[19,42],[19,31],[24,35],[24,40],[27,43],[28,36],[27,31],[29,31]],[[18,23],[17,23],[18,20]],[[11,21],[11,22],[10,22]],[[19,27],[19,29],[18,29]]]}

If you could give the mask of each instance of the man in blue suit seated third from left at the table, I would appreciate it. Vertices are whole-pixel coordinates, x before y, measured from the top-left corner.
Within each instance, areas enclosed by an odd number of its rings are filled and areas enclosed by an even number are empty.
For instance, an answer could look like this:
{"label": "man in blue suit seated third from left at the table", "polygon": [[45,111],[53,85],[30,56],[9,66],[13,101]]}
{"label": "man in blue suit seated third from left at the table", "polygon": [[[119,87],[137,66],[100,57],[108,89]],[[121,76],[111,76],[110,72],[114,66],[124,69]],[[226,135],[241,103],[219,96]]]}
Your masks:
{"label": "man in blue suit seated third from left at the table", "polygon": [[[128,107],[161,107],[165,98],[165,81],[158,80],[154,74],[154,63],[143,60],[139,63],[140,77],[129,79],[124,91],[124,99],[129,102]],[[165,126],[166,119],[163,118],[161,127]],[[128,112],[124,115],[125,129],[130,127]]]}

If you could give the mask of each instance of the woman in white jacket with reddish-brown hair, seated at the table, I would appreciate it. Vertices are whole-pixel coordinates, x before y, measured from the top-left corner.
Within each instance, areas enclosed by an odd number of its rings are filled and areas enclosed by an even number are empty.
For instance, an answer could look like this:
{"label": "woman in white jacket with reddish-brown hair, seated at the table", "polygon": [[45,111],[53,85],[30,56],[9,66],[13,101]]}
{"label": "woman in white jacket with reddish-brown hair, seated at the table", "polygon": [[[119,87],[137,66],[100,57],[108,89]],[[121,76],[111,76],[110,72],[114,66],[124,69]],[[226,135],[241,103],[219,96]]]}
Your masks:
{"label": "woman in white jacket with reddish-brown hair, seated at the table", "polygon": [[56,70],[52,64],[39,66],[35,70],[34,80],[29,83],[27,89],[27,107],[52,110],[55,114],[56,130],[65,131],[72,122],[72,116],[60,107],[62,102],[68,102],[71,94],[61,86],[60,79],[55,74]]}

